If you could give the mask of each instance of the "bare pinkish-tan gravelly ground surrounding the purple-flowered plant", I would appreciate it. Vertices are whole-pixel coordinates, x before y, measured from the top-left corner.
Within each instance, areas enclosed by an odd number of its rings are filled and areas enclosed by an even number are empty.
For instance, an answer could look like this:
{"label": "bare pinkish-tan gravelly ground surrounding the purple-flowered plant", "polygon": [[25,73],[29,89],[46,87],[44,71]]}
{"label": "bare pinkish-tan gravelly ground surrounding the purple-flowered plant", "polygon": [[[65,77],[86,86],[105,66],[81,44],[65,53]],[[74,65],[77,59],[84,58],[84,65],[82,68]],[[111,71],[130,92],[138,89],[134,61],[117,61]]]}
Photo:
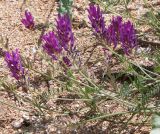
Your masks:
{"label": "bare pinkish-tan gravelly ground surrounding the purple-flowered plant", "polygon": [[[148,1],[155,8],[160,7],[160,3],[157,0]],[[84,49],[87,46],[91,46],[94,43],[94,38],[90,30],[89,21],[87,18],[87,5],[88,0],[75,0],[73,5],[73,31],[75,33],[76,45],[79,49]],[[37,25],[48,24],[49,28],[46,30],[40,27],[39,30],[30,31],[25,29],[21,23],[21,18],[24,15],[25,9],[28,9],[33,16]],[[130,5],[129,9],[133,10],[133,16],[140,18],[144,15],[148,7],[139,2],[139,0],[134,0]],[[123,12],[123,8],[117,7],[117,11]],[[8,50],[19,48],[20,52],[25,57],[33,57],[34,51],[37,49],[36,46],[39,43],[39,38],[48,30],[54,29],[54,22],[57,16],[57,2],[55,0],[0,0],[0,47]],[[110,20],[113,14],[105,14],[106,21]],[[146,37],[147,41],[159,42],[157,37],[153,36],[153,31],[150,27],[141,26],[138,27],[139,31],[146,32],[148,34]],[[150,38],[151,37],[151,38]],[[39,44],[41,45],[41,44]],[[95,56],[100,50],[97,49]],[[4,60],[0,57],[0,79],[8,80],[10,83],[13,80],[8,75],[9,72],[6,69]],[[43,86],[42,86],[43,88]],[[67,94],[67,93],[66,93]],[[64,93],[62,95],[66,96]],[[55,109],[61,109],[64,104],[59,102],[56,104],[54,101],[50,101],[47,105],[55,107]],[[65,104],[66,107],[71,109],[78,109],[78,107],[83,107],[82,102],[70,102]],[[29,107],[29,106],[28,106]],[[116,103],[107,102],[107,104],[102,104],[104,111],[110,109],[112,112],[121,111],[123,108]],[[119,133],[121,128],[118,119],[115,118],[115,122],[101,121],[101,122],[90,122],[84,126],[76,126],[67,128],[69,122],[78,122],[80,118],[77,116],[56,116],[48,117],[43,120],[42,118],[28,115],[25,111],[27,108],[23,105],[19,105],[13,99],[9,97],[4,91],[0,91],[0,134],[54,134],[54,133],[95,133],[95,134],[112,134]],[[27,109],[28,110],[28,109]],[[30,111],[31,112],[31,111]],[[50,119],[51,118],[51,119]],[[123,118],[123,117],[122,117]],[[125,117],[124,117],[125,118]],[[140,120],[140,117],[135,118],[135,120]],[[122,133],[124,134],[149,134],[150,126],[133,126],[132,124],[128,126],[126,130]]]}

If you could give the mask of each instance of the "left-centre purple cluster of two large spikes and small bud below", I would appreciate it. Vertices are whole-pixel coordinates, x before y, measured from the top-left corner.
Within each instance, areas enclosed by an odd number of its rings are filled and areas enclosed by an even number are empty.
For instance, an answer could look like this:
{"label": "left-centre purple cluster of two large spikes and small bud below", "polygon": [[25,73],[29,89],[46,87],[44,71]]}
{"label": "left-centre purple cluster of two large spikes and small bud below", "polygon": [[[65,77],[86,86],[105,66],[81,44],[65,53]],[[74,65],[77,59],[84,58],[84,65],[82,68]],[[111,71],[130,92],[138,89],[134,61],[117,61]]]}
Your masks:
{"label": "left-centre purple cluster of two large spikes and small bud below", "polygon": [[[74,36],[72,33],[69,16],[67,14],[59,14],[56,22],[57,34],[54,34],[54,32],[49,32],[48,34],[42,36],[44,41],[43,48],[48,53],[48,55],[53,58],[53,60],[58,60],[57,55],[63,55],[63,50],[67,53],[74,50]],[[67,56],[63,55],[62,60],[68,67],[72,65]]]}

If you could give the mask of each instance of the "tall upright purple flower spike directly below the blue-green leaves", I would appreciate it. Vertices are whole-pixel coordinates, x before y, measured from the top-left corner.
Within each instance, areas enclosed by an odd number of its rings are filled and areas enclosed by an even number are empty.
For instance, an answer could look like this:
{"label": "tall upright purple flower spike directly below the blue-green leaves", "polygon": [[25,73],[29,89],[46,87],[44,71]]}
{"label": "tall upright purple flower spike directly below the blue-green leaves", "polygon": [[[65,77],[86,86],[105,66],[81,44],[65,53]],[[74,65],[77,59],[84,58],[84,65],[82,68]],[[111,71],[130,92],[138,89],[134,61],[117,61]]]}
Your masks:
{"label": "tall upright purple flower spike directly below the blue-green leaves", "polygon": [[67,14],[58,15],[56,19],[57,25],[57,35],[60,45],[66,50],[69,51],[73,49],[74,46],[74,36],[71,27],[71,21]]}

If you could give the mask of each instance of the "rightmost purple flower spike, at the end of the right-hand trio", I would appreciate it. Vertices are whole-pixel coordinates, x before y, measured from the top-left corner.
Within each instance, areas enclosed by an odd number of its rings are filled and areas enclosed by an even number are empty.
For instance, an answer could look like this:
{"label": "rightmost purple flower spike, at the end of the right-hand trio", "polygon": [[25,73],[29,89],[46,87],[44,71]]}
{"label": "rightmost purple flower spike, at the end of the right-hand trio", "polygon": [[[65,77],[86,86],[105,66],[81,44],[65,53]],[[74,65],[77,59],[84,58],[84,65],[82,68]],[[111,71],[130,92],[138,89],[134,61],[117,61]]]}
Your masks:
{"label": "rightmost purple flower spike, at the end of the right-hand trio", "polygon": [[130,21],[125,22],[120,29],[120,42],[125,54],[129,55],[137,45],[136,30]]}

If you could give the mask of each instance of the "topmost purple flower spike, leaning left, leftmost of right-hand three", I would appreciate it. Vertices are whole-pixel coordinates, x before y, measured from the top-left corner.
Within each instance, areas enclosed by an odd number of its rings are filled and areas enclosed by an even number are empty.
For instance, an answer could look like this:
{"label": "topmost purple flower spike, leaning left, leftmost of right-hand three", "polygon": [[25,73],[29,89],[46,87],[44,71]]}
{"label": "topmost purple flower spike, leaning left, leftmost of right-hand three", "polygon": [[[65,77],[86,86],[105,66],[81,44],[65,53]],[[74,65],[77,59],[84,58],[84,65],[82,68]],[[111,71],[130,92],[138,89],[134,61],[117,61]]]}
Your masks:
{"label": "topmost purple flower spike, leaning left, leftmost of right-hand three", "polygon": [[99,6],[94,4],[89,5],[88,18],[91,22],[92,28],[95,30],[95,33],[104,35],[106,32],[104,17],[102,16],[102,11]]}

